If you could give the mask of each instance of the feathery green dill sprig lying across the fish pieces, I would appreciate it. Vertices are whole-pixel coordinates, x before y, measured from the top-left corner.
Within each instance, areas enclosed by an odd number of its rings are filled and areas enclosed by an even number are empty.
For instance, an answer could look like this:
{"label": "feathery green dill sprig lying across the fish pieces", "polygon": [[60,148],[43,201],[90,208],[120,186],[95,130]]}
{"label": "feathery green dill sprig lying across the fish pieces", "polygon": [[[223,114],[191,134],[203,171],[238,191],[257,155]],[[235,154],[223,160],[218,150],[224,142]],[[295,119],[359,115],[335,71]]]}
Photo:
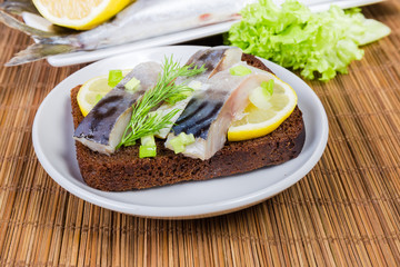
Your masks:
{"label": "feathery green dill sprig lying across the fish pieces", "polygon": [[177,85],[174,81],[178,77],[192,77],[204,70],[204,66],[201,68],[197,66],[193,67],[192,65],[180,67],[179,62],[173,62],[172,56],[169,59],[166,57],[162,73],[159,76],[156,86],[146,91],[144,95],[132,105],[131,119],[117,148],[121,146],[132,146],[139,138],[154,135],[162,128],[172,125],[171,119],[179,109],[173,109],[163,116],[152,110],[163,101],[173,105],[187,97],[184,92],[193,90],[188,87],[187,82]]}

